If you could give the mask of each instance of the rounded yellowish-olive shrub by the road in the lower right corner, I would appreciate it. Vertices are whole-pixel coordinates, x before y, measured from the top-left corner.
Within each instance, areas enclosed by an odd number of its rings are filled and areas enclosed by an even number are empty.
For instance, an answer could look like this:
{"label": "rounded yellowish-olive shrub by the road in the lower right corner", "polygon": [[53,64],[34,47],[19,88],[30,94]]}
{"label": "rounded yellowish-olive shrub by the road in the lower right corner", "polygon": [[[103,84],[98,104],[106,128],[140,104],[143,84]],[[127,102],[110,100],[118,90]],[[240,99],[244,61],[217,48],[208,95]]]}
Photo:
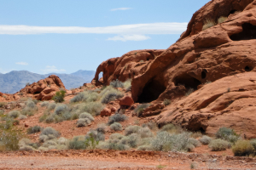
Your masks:
{"label": "rounded yellowish-olive shrub by the road in the lower right corner", "polygon": [[253,144],[249,140],[238,140],[232,147],[235,156],[250,156],[254,154]]}

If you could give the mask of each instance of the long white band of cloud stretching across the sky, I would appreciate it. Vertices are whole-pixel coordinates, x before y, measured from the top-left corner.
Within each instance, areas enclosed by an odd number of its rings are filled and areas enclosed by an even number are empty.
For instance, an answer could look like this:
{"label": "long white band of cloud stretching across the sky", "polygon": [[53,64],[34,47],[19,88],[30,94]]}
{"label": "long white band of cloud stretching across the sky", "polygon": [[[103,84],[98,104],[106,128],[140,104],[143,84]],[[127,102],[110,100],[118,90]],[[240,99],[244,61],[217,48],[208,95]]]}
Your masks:
{"label": "long white band of cloud stretching across the sky", "polygon": [[181,34],[187,29],[188,23],[151,23],[105,27],[79,26],[4,26],[0,25],[0,34],[116,34],[116,35],[147,35],[147,34]]}

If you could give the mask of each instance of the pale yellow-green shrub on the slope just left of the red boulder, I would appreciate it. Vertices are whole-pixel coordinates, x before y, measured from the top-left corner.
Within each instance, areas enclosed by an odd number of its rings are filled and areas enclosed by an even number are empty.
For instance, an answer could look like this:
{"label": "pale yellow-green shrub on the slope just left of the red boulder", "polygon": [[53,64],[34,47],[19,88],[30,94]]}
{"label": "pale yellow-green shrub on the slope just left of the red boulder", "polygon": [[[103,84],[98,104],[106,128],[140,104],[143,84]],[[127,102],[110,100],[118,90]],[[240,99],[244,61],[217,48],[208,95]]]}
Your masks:
{"label": "pale yellow-green shrub on the slope just left of the red boulder", "polygon": [[122,92],[113,88],[112,86],[108,86],[102,90],[100,95],[102,96],[102,104],[108,104],[110,101],[120,99],[124,96]]}

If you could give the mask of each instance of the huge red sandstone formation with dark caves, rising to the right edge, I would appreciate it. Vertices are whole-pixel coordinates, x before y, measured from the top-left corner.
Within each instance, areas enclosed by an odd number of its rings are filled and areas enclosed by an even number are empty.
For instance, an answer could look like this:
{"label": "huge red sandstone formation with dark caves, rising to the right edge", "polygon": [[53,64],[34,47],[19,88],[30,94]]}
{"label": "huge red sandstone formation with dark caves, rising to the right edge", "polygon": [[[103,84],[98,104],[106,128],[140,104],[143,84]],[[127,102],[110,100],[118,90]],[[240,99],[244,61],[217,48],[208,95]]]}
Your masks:
{"label": "huge red sandstone formation with dark caves, rising to the right edge", "polygon": [[[205,20],[216,22],[221,16],[228,20],[202,31]],[[160,125],[174,122],[207,133],[232,127],[256,138],[255,51],[256,0],[212,0],[193,15],[187,31],[170,48],[108,59],[94,80],[98,82],[101,71],[99,84],[131,78],[132,99],[151,102],[143,116],[154,116]],[[191,90],[195,92],[187,97]],[[158,104],[164,99],[172,104],[163,109]]]}

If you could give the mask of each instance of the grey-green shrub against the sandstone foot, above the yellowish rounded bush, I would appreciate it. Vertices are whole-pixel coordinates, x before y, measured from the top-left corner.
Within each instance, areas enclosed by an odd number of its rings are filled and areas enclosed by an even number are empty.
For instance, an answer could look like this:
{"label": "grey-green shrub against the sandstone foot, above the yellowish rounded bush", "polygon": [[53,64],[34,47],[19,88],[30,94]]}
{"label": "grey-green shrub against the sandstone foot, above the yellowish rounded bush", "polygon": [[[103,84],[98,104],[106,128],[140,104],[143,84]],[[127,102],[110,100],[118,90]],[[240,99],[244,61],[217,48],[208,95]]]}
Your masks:
{"label": "grey-green shrub against the sandstone foot, above the yellowish rounded bush", "polygon": [[235,144],[238,139],[240,139],[240,135],[237,134],[233,129],[228,127],[220,127],[218,132],[215,134],[217,139],[224,139],[229,141],[232,144]]}

